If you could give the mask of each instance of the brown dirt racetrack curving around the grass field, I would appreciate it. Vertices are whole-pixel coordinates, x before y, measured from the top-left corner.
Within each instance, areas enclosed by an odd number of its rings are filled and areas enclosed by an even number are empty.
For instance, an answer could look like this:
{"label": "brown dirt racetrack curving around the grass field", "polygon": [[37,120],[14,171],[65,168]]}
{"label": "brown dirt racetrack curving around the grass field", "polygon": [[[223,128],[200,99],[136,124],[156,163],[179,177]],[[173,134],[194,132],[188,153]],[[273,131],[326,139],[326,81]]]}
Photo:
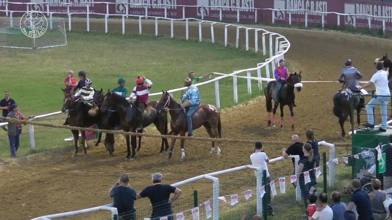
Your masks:
{"label": "brown dirt racetrack curving around the grass field", "polygon": [[[116,22],[118,20],[109,23],[109,31],[113,31],[113,23]],[[154,30],[152,23],[147,21],[149,23],[147,25],[146,21],[143,22],[145,22],[143,32],[152,33]],[[73,21],[73,28],[84,28],[83,24],[84,20]],[[177,25],[175,34],[183,35],[179,30],[184,29],[178,28]],[[100,20],[99,25],[92,23],[90,28],[91,30],[98,29],[98,26],[101,30],[104,29],[103,20]],[[116,30],[120,30],[120,24],[117,23],[115,26]],[[169,23],[160,23],[161,34],[170,33],[170,29],[165,26],[169,27]],[[127,23],[126,30],[131,30],[131,28],[137,30],[136,21]],[[303,80],[336,80],[347,58],[351,58],[354,66],[363,73],[363,80],[368,80],[375,72],[374,59],[392,49],[390,40],[368,36],[274,27],[265,27],[265,29],[278,32],[291,42],[291,48],[285,58],[294,66],[291,72],[302,71]],[[203,31],[205,38],[209,38],[207,25]],[[197,27],[194,24],[190,32],[192,37],[197,36]],[[221,27],[216,27],[215,33],[218,35],[217,40],[223,39]],[[235,39],[233,35],[235,32],[230,29],[229,33],[229,40],[232,42]],[[244,35],[244,33],[241,34]],[[241,38],[244,37],[241,36]],[[250,39],[250,42],[252,41]],[[261,101],[225,111],[222,114],[223,136],[289,141],[290,136],[295,133],[303,140],[305,130],[311,128],[319,140],[341,142],[338,120],[332,114],[332,96],[339,87],[338,83],[305,84],[303,90],[296,94],[298,107],[294,108],[296,124],[294,132],[289,129],[288,125],[283,131],[278,128],[266,128],[265,102]],[[288,122],[287,107],[285,111],[285,121]],[[348,123],[346,129],[348,130]],[[207,133],[200,129],[195,131],[195,135],[207,136]],[[349,139],[343,141],[350,142]],[[133,162],[122,160],[126,153],[123,144],[116,146],[114,157],[108,157],[104,152],[104,147],[100,146],[91,147],[86,160],[82,157],[76,160],[71,159],[71,148],[27,158],[6,160],[4,165],[0,165],[1,216],[22,220],[111,203],[108,190],[123,172],[130,173],[131,185],[140,191],[150,183],[151,174],[155,172],[162,172],[164,181],[173,183],[202,173],[250,163],[249,155],[252,152],[250,144],[245,146],[222,144],[223,155],[220,158],[216,155],[207,156],[211,149],[208,142],[186,142],[185,144],[187,153],[185,162],[178,162],[180,158],[178,144],[174,149],[174,158],[168,162],[167,155],[158,154],[160,140],[152,138],[144,139],[142,150],[136,154],[137,159]],[[270,158],[274,158],[280,156],[279,150],[285,147],[287,146],[268,145],[265,146],[265,151]],[[326,149],[323,148],[323,150]],[[283,166],[290,166],[290,161],[271,165],[270,169],[278,170]],[[239,179],[251,174],[249,171],[238,172],[235,175],[223,176],[222,180]],[[201,181],[185,185],[181,189],[190,192],[193,189],[207,186],[210,186],[209,182]],[[148,203],[147,200],[142,200],[142,202]],[[86,215],[85,217],[93,219],[93,216]]]}

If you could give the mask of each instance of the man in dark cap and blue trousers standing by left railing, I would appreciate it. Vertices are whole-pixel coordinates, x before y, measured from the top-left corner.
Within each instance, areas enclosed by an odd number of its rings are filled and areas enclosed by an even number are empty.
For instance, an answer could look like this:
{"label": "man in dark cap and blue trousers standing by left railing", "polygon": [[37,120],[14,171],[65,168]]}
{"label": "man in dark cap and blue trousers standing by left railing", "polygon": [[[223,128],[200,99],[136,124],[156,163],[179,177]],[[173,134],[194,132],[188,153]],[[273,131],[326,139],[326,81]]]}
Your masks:
{"label": "man in dark cap and blue trousers standing by left railing", "polygon": [[[24,120],[24,117],[19,112],[18,105],[16,103],[12,104],[9,109],[11,110],[7,117],[15,118],[19,120]],[[9,140],[9,149],[11,151],[11,157],[16,157],[16,151],[19,148],[19,136],[22,133],[22,124],[19,123],[8,123],[8,140]]]}

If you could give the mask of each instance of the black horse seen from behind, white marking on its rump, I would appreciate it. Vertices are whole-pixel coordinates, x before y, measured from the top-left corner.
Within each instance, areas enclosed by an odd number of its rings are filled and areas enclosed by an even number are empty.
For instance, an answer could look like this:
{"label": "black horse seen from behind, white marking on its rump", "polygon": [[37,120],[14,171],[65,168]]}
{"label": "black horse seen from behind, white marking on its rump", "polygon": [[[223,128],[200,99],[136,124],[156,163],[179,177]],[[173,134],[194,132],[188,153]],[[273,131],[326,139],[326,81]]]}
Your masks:
{"label": "black horse seen from behind, white marking on its rump", "polygon": [[334,101],[334,108],[333,112],[336,115],[336,117],[339,118],[339,124],[342,130],[342,137],[346,136],[346,132],[344,130],[344,123],[347,120],[347,117],[350,116],[350,121],[351,121],[351,106],[350,102],[354,102],[354,109],[357,110],[357,123],[358,123],[358,128],[360,128],[361,124],[361,118],[360,113],[361,113],[361,105],[359,105],[359,96],[353,96],[353,93],[350,89],[348,88],[341,88],[336,92],[333,98]]}

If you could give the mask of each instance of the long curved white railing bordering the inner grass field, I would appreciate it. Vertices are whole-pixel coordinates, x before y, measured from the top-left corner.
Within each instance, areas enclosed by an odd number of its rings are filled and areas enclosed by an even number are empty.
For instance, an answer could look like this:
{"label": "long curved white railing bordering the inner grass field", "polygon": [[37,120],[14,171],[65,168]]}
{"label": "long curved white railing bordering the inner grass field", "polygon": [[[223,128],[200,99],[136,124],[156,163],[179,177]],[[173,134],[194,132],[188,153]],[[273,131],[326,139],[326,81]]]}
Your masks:
{"label": "long curved white railing bordering the inner grass field", "polygon": [[[2,3],[2,2],[0,2]],[[47,4],[47,12],[50,14],[51,18],[52,18],[52,14],[54,14],[54,12],[49,12],[49,5],[50,3],[44,2],[45,4]],[[42,4],[44,4],[42,3]],[[12,19],[12,13],[13,12],[25,12],[25,11],[8,11],[8,6],[7,4],[27,4],[27,8],[26,10],[28,10],[28,5],[29,4],[40,4],[40,3],[20,3],[20,2],[6,2],[6,12],[10,13],[10,19]],[[69,3],[65,3],[68,5],[67,9],[69,12]],[[94,4],[114,4],[114,3],[109,3],[109,2],[94,2]],[[89,4],[87,4],[87,9],[89,9]],[[0,11],[4,11],[4,10],[0,10]],[[87,10],[88,11],[88,10]],[[257,71],[257,77],[258,77],[258,81],[259,83],[259,90],[262,88],[261,87],[261,69],[265,68],[265,71],[267,72],[267,78],[269,80],[270,78],[270,74],[269,74],[269,68],[271,66],[272,70],[275,69],[276,63],[278,62],[278,60],[280,58],[284,58],[284,54],[289,50],[290,48],[290,42],[281,34],[275,33],[275,32],[269,32],[266,31],[265,29],[261,29],[261,28],[251,28],[251,27],[245,27],[245,26],[241,26],[238,24],[228,24],[228,23],[222,23],[222,22],[212,22],[212,21],[206,21],[206,20],[200,20],[200,19],[196,19],[196,18],[185,18],[185,19],[174,19],[174,18],[163,18],[163,17],[155,17],[155,16],[136,16],[136,15],[119,15],[119,14],[108,14],[108,7],[107,7],[107,14],[103,14],[105,15],[105,32],[108,31],[107,28],[107,18],[108,16],[122,16],[122,27],[123,27],[123,34],[125,33],[125,16],[133,16],[133,17],[138,17],[139,18],[139,34],[142,34],[142,18],[154,18],[155,19],[155,34],[156,36],[158,35],[158,19],[163,19],[163,20],[170,20],[171,21],[171,33],[173,33],[173,21],[185,21],[185,32],[186,32],[186,39],[189,39],[189,20],[196,20],[199,22],[199,40],[201,41],[201,25],[202,23],[209,23],[211,26],[211,40],[212,42],[214,42],[214,25],[224,25],[225,26],[225,46],[227,45],[227,27],[229,26],[233,26],[236,27],[236,47],[238,48],[238,42],[239,42],[239,31],[240,29],[245,29],[246,30],[246,41],[245,41],[245,45],[246,45],[246,49],[249,50],[249,30],[253,30],[255,33],[255,52],[259,52],[258,50],[258,43],[259,43],[259,38],[258,38],[258,32],[259,31],[263,31],[262,33],[262,37],[261,37],[261,42],[262,42],[262,51],[263,51],[263,55],[267,54],[266,51],[266,36],[269,34],[269,55],[270,58],[266,59],[265,62],[263,63],[258,63],[257,67],[255,68],[250,68],[250,69],[244,69],[244,70],[237,70],[234,71],[230,74],[227,74],[225,76],[219,76],[216,77],[214,79],[202,82],[202,83],[197,83],[195,84],[195,86],[201,86],[201,85],[205,85],[208,83],[212,83],[214,82],[214,86],[215,86],[215,104],[217,108],[220,108],[220,93],[219,93],[219,80],[227,78],[227,77],[233,77],[233,96],[234,96],[234,102],[238,103],[238,88],[237,88],[237,74],[240,73],[247,73],[247,76],[250,77],[251,76],[251,71]],[[67,13],[68,14],[68,18],[69,18],[69,30],[71,30],[71,14],[73,13]],[[101,13],[85,13],[87,14],[87,31],[89,31],[89,14],[101,14]],[[171,37],[173,37],[173,34],[171,34]],[[275,51],[274,51],[274,41],[275,41]],[[265,78],[263,78],[265,79]],[[251,83],[250,83],[250,79],[248,80],[247,83],[247,91],[248,93],[252,92],[252,88],[251,88]],[[169,90],[168,92],[172,95],[174,92],[178,92],[181,90],[186,90],[187,87],[182,87],[182,88],[176,88],[176,89],[172,89]],[[152,93],[149,94],[149,96],[160,96],[162,95],[161,92],[157,92],[157,93]],[[53,112],[53,113],[49,113],[49,114],[44,114],[44,115],[38,115],[33,117],[30,120],[34,120],[34,119],[38,119],[38,118],[44,118],[44,117],[49,117],[52,115],[58,115],[61,114],[61,112]],[[8,123],[0,123],[0,126],[4,126]],[[29,137],[30,137],[30,148],[32,150],[35,149],[35,140],[34,140],[34,126],[33,125],[29,125]]]}

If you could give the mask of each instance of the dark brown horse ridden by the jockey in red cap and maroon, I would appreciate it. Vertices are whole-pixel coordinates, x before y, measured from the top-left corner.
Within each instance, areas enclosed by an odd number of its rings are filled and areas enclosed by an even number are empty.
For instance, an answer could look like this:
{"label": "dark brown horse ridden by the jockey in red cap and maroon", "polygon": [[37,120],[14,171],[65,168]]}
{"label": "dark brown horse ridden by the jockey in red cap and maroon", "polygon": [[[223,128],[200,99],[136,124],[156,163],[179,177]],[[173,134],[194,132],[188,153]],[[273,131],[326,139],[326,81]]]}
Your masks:
{"label": "dark brown horse ridden by the jockey in red cap and maroon", "polygon": [[[162,135],[165,135],[167,134],[167,112],[156,110],[156,108],[154,108],[156,104],[156,101],[147,104],[147,108],[143,112],[143,128],[154,123],[157,130]],[[101,112],[107,112],[108,110],[111,112],[116,112],[120,119],[123,130],[125,132],[136,132],[136,111],[138,111],[138,108],[133,103],[129,103],[127,99],[125,99],[125,97],[122,97],[108,90],[108,93],[103,100],[100,110]],[[127,113],[129,115],[129,120],[127,120]],[[125,139],[127,142],[128,152],[127,157],[125,157],[124,159],[134,160],[136,154],[136,136],[131,137],[132,155],[129,135],[125,135]],[[169,143],[167,142],[167,139],[163,138],[160,153],[163,152],[163,144],[166,145],[165,151],[167,151],[167,149],[169,148]]]}

